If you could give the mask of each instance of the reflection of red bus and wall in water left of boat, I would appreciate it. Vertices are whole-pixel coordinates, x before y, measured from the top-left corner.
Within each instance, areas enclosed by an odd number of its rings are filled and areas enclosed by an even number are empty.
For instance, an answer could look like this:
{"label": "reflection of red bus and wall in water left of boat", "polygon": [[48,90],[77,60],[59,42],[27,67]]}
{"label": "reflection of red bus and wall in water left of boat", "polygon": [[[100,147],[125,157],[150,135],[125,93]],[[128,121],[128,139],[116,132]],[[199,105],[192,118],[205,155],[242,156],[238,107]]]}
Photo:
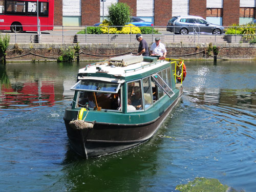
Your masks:
{"label": "reflection of red bus and wall in water left of boat", "polygon": [[[74,92],[70,87],[76,80],[77,69],[84,65],[87,65],[87,62],[81,62],[80,66],[75,63],[0,65],[0,109],[52,106],[63,97],[71,99]],[[67,68],[75,70],[67,74]]]}

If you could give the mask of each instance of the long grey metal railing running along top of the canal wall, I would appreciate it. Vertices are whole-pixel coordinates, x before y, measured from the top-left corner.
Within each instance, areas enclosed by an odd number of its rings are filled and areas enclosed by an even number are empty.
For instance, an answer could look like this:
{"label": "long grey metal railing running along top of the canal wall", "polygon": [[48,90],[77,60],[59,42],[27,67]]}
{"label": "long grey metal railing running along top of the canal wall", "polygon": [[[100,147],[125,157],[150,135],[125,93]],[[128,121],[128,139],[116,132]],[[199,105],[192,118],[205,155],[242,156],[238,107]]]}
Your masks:
{"label": "long grey metal railing running along top of the canal wall", "polygon": [[[21,27],[21,26],[16,26]],[[25,26],[23,26],[25,27]],[[31,26],[30,26],[31,27]],[[36,26],[33,26],[36,27]],[[47,26],[41,26],[47,27]],[[54,26],[53,31],[41,31],[38,35],[36,31],[34,32],[22,32],[22,33],[12,33],[11,31],[2,31],[10,35],[11,43],[61,43],[61,44],[71,44],[71,43],[136,43],[135,34],[133,31],[135,27],[129,26],[129,34],[115,33],[111,34],[113,29],[110,26],[105,26],[105,33],[103,34],[92,34],[92,31],[99,31],[102,26]],[[115,26],[121,27],[121,26]],[[124,28],[124,29],[125,29]],[[228,43],[241,43],[241,42],[252,42],[255,40],[256,36],[254,34],[240,34],[241,29],[247,28],[250,31],[256,31],[256,27],[225,27],[225,30],[230,29],[234,34],[203,34],[203,29],[197,26],[198,33],[193,32],[193,27],[191,28],[191,33],[187,35],[176,34],[173,32],[166,31],[166,26],[154,26],[148,27],[150,34],[142,34],[143,38],[146,39],[148,43],[154,42],[155,37],[161,37],[161,42],[228,42]],[[252,28],[252,29],[251,29]],[[168,29],[177,32],[176,26],[170,26]],[[217,28],[213,29],[216,30]],[[196,29],[194,29],[197,31]],[[78,33],[83,31],[83,34]],[[155,33],[158,32],[159,34]],[[246,30],[244,30],[246,31]],[[138,32],[138,31],[137,31]],[[137,33],[136,32],[136,33]],[[190,32],[190,31],[188,31]],[[255,40],[256,41],[256,40]],[[253,42],[254,43],[254,42]]]}

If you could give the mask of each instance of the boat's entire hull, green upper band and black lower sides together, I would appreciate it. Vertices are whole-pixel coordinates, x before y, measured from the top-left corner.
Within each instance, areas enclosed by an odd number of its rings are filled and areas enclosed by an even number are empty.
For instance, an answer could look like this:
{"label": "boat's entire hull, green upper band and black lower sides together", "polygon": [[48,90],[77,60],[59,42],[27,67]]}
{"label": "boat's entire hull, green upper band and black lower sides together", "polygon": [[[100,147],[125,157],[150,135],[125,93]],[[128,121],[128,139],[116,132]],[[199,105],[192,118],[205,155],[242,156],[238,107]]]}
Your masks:
{"label": "boat's entire hull, green upper band and black lower sides together", "polygon": [[[105,112],[98,117],[97,111],[89,111],[89,122],[96,121],[92,129],[73,129],[69,122],[77,118],[78,111],[66,109],[65,124],[71,148],[84,158],[96,157],[126,150],[150,139],[159,129],[168,114],[178,103],[182,87],[176,89],[172,98],[163,99],[154,109],[141,114]],[[86,121],[87,121],[86,120]]]}

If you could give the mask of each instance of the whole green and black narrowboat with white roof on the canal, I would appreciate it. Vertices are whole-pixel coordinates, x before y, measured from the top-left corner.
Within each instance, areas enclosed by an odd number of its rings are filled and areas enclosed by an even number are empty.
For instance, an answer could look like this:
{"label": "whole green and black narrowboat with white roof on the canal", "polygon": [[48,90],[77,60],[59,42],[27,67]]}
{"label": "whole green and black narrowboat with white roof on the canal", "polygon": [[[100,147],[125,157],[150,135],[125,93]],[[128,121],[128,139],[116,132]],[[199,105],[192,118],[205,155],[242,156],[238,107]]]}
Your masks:
{"label": "whole green and black narrowboat with white roof on the canal", "polygon": [[132,54],[79,69],[63,118],[71,148],[89,158],[147,141],[179,101],[184,76],[183,60]]}

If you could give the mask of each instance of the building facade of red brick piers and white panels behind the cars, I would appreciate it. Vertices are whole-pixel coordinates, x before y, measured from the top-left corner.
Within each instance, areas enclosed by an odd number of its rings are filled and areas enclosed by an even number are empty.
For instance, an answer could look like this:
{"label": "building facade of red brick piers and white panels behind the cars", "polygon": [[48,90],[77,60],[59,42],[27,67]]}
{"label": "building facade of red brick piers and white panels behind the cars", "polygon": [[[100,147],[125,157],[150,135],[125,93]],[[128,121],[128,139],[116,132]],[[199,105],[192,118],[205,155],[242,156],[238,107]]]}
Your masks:
{"label": "building facade of red brick piers and white panels behind the cars", "polygon": [[54,25],[93,25],[108,16],[109,5],[118,2],[155,26],[166,26],[177,15],[202,16],[223,26],[242,25],[255,18],[255,0],[55,0]]}

